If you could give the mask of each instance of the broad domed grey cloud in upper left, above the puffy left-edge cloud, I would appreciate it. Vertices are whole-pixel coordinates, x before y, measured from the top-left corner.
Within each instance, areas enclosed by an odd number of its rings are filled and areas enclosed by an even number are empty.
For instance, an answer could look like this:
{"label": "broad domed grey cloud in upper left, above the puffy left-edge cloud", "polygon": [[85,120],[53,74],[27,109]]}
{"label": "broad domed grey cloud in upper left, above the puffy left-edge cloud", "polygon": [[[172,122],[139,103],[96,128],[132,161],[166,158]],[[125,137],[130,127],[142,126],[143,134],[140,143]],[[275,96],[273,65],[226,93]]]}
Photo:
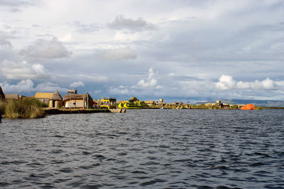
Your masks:
{"label": "broad domed grey cloud in upper left, above the puffy left-edge cloud", "polygon": [[68,51],[56,38],[53,38],[51,41],[38,39],[33,45],[29,45],[28,48],[21,50],[20,54],[37,60],[70,57],[72,52]]}

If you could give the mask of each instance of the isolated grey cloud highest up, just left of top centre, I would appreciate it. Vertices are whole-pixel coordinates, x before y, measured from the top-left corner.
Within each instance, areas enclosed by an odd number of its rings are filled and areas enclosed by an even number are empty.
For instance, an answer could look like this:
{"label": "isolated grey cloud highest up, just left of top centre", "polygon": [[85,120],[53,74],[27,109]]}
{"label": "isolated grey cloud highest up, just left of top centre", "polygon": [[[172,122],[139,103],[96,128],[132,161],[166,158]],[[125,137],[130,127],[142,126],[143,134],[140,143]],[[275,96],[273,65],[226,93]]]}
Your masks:
{"label": "isolated grey cloud highest up, just left of top centre", "polygon": [[132,18],[125,18],[124,15],[119,15],[116,16],[114,21],[109,23],[109,28],[117,30],[143,31],[152,30],[155,26],[152,23],[144,21],[143,18],[137,18],[134,20]]}

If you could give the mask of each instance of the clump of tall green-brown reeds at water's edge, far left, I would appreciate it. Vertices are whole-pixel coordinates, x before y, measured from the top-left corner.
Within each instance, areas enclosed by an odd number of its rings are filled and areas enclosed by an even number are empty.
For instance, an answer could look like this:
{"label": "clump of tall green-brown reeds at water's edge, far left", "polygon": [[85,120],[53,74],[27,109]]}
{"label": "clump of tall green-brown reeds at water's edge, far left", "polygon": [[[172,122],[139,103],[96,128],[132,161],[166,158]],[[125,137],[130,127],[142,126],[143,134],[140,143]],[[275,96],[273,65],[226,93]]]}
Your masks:
{"label": "clump of tall green-brown reeds at water's edge, far left", "polygon": [[10,119],[44,117],[42,103],[35,98],[24,98],[21,101],[12,100],[6,103],[4,116]]}

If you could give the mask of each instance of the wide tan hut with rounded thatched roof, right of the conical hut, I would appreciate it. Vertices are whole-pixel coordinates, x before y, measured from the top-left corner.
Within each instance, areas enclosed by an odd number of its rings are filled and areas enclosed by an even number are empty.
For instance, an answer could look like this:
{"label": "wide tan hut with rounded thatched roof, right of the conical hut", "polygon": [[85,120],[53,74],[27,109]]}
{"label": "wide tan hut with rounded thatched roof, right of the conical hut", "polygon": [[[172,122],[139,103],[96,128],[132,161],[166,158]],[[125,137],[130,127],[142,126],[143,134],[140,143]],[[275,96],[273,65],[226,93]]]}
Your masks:
{"label": "wide tan hut with rounded thatched roof, right of the conical hut", "polygon": [[88,92],[85,94],[67,94],[63,98],[63,106],[68,108],[92,108],[93,99]]}

